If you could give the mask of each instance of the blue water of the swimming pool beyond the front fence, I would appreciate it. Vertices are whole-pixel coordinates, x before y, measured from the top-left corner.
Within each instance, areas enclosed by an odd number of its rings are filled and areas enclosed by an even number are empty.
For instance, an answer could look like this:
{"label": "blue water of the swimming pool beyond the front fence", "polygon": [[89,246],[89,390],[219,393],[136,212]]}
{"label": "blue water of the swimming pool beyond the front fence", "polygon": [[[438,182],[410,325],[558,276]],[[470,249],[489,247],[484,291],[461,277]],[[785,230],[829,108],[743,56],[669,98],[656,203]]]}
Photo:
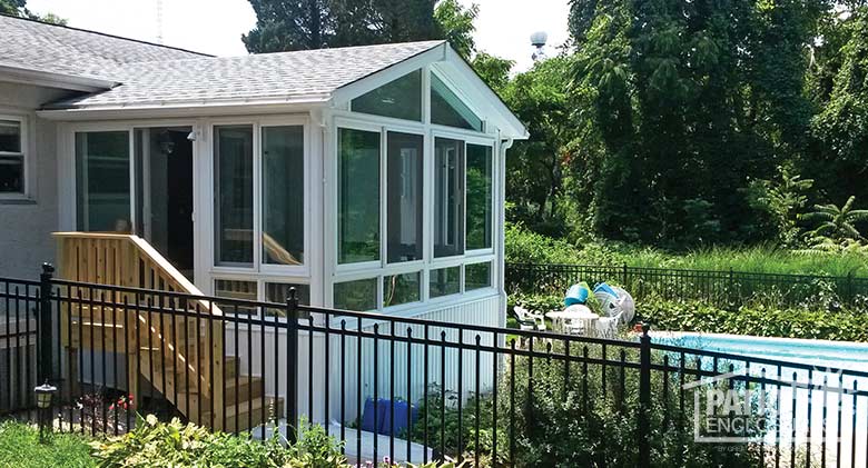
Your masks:
{"label": "blue water of the swimming pool beyond the front fence", "polygon": [[651,332],[661,345],[868,372],[868,343],[741,335]]}

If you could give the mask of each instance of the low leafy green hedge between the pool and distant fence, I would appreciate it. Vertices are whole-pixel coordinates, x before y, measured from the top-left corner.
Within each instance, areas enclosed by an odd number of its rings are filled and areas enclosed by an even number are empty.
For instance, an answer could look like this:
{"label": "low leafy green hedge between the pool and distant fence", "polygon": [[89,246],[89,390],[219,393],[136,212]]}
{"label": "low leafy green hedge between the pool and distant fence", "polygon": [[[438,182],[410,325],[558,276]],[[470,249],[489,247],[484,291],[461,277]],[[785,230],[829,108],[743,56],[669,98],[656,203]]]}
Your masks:
{"label": "low leafy green hedge between the pool and distant fence", "polygon": [[700,301],[647,298],[637,311],[657,330],[868,341],[865,313],[847,310],[780,310],[758,303],[730,311]]}

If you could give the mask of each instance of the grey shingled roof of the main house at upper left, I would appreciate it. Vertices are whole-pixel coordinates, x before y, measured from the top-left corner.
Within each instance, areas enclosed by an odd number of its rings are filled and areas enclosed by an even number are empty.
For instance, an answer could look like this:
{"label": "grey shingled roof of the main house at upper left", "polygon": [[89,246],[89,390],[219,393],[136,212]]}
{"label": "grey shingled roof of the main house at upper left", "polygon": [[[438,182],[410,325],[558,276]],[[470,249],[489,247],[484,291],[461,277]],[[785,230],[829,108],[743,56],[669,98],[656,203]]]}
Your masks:
{"label": "grey shingled roof of the main house at upper left", "polygon": [[118,67],[210,57],[174,47],[0,14],[0,66],[117,81]]}

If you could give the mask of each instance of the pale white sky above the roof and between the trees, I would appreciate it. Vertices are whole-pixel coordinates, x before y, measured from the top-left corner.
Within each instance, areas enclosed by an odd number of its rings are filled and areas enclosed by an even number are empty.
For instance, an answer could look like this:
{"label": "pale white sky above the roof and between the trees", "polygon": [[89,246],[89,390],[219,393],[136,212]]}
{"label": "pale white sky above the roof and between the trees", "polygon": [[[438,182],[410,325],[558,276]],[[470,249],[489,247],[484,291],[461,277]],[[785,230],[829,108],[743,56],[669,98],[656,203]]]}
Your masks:
{"label": "pale white sky above the roof and between the trees", "polygon": [[[515,71],[530,68],[530,36],[549,33],[548,52],[568,38],[568,0],[461,0],[480,6],[476,46],[480,50],[516,62]],[[52,12],[69,26],[132,39],[157,41],[157,0],[28,0],[37,13]],[[162,43],[216,56],[247,51],[241,34],[256,16],[247,0],[162,0]]]}

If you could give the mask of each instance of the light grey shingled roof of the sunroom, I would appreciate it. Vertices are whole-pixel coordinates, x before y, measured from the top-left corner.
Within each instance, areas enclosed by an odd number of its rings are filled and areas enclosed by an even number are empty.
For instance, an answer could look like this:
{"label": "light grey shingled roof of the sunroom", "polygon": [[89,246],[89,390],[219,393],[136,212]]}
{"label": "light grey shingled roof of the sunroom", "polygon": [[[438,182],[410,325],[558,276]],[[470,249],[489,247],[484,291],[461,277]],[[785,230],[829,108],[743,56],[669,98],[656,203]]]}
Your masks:
{"label": "light grey shingled roof of the sunroom", "polygon": [[347,47],[244,57],[132,62],[116,67],[121,84],[50,108],[171,106],[218,101],[324,101],[361,80],[444,41]]}

